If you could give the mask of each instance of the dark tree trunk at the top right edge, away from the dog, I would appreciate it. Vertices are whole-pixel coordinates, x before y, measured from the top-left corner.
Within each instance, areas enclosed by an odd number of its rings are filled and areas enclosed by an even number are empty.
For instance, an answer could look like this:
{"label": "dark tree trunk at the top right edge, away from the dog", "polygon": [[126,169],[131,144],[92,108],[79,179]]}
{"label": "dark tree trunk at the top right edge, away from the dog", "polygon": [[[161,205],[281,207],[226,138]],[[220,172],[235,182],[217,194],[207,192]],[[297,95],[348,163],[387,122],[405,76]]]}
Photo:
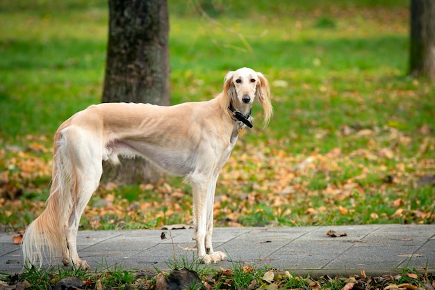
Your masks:
{"label": "dark tree trunk at the top right edge, away from the dog", "polygon": [[435,1],[411,0],[411,76],[435,79]]}

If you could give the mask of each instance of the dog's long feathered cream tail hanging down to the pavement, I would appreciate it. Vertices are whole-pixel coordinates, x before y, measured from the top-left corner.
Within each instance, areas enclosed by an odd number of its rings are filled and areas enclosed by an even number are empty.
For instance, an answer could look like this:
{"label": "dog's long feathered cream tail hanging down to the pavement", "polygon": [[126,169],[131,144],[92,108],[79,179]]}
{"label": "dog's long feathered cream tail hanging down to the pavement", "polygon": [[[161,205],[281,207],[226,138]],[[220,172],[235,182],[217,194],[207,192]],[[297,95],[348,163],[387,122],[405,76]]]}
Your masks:
{"label": "dog's long feathered cream tail hanging down to the pavement", "polygon": [[68,154],[66,140],[57,131],[50,196],[42,214],[28,225],[23,236],[22,251],[27,266],[41,267],[44,259],[51,261],[67,250],[65,228],[74,202],[72,189],[76,184]]}

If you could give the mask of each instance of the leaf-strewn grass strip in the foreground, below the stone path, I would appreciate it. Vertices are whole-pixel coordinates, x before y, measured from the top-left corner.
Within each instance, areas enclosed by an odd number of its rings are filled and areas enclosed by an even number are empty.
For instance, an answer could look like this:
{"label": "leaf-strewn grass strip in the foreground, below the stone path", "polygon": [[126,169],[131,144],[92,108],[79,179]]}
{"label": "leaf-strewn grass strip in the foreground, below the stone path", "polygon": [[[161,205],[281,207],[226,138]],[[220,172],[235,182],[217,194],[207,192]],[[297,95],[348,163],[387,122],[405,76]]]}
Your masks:
{"label": "leaf-strewn grass strip in the foreground, below the stone path", "polygon": [[[198,260],[173,261],[171,269],[186,268],[195,271],[204,284],[197,284],[188,289],[321,289],[339,290],[350,287],[350,283],[358,288],[384,289],[392,287],[427,287],[434,282],[430,273],[419,273],[414,268],[403,268],[397,275],[383,275],[368,277],[366,275],[352,275],[329,277],[311,277],[310,275],[294,275],[288,271],[277,269],[257,269],[254,266],[242,266],[233,263],[230,268],[213,270],[199,264]],[[158,275],[165,277],[169,273],[158,271]],[[26,287],[26,289],[53,289],[64,278],[69,279],[69,285],[80,289],[154,289],[158,276],[156,273],[125,270],[122,266],[106,267],[102,271],[92,273],[74,268],[26,268],[24,273],[6,275],[0,280],[11,287]],[[411,286],[410,286],[411,285]]]}

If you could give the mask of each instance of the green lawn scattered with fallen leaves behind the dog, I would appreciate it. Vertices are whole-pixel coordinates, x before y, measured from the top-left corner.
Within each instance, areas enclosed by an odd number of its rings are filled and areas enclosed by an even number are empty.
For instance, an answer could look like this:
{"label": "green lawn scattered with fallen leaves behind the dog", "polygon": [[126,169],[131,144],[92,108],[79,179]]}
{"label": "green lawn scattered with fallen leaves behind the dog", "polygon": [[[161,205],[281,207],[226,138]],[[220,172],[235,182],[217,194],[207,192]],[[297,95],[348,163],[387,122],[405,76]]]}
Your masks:
{"label": "green lawn scattered with fallen leaves behind the dog", "polygon": [[[211,22],[169,1],[172,103],[210,99],[247,66],[268,77],[274,117],[262,130],[254,107],[217,184],[215,225],[434,223],[435,85],[407,76],[408,1],[218,2],[204,6]],[[43,209],[58,125],[100,102],[108,9],[0,0],[0,19],[0,225],[10,231]],[[175,177],[103,184],[81,227],[189,223],[191,204]]]}

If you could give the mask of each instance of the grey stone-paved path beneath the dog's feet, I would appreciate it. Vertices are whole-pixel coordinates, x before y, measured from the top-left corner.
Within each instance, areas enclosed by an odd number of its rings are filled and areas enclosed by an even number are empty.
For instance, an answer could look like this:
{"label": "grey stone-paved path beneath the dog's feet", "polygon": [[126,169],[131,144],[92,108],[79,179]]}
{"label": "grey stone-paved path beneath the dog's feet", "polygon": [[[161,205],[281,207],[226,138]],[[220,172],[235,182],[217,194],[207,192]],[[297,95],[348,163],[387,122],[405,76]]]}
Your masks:
{"label": "grey stone-paved path beneath the dog's feet", "polygon": [[[330,237],[332,229],[347,236]],[[168,239],[161,239],[166,232]],[[91,271],[115,264],[128,270],[167,271],[174,262],[192,261],[192,229],[80,231],[79,255]],[[0,234],[0,273],[22,271],[22,254],[13,235]],[[173,241],[173,243],[172,243]],[[367,275],[401,273],[417,268],[435,273],[435,225],[352,225],[322,227],[215,228],[215,250],[228,258],[212,267],[269,266],[297,275]]]}

